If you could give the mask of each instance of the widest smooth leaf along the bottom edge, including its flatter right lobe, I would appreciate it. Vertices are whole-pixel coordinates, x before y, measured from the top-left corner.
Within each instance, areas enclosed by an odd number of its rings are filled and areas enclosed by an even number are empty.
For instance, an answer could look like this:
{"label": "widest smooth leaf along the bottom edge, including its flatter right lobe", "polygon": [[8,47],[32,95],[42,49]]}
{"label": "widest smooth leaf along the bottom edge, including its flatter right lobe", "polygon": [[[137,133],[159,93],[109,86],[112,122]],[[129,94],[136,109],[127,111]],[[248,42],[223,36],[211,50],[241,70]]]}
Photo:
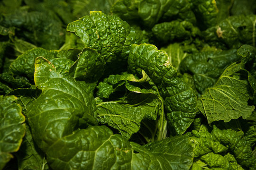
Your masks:
{"label": "widest smooth leaf along the bottom edge, including its flatter right lobe", "polygon": [[57,141],[48,160],[55,170],[189,170],[193,150],[187,136],[140,146],[107,127],[94,126]]}

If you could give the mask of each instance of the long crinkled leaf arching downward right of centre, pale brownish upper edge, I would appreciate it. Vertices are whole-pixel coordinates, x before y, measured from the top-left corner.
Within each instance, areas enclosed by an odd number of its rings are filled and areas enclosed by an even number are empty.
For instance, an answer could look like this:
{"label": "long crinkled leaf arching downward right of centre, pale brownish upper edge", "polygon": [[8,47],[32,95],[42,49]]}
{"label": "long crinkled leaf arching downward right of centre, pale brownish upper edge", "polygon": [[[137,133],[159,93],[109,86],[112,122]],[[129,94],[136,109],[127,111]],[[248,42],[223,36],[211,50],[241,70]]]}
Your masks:
{"label": "long crinkled leaf arching downward right of centre, pale brownish upper edge", "polygon": [[165,100],[168,120],[178,134],[183,134],[195,117],[197,97],[192,88],[176,76],[170,62],[166,52],[154,45],[132,45],[128,70],[132,73],[136,73],[137,68],[145,70]]}

